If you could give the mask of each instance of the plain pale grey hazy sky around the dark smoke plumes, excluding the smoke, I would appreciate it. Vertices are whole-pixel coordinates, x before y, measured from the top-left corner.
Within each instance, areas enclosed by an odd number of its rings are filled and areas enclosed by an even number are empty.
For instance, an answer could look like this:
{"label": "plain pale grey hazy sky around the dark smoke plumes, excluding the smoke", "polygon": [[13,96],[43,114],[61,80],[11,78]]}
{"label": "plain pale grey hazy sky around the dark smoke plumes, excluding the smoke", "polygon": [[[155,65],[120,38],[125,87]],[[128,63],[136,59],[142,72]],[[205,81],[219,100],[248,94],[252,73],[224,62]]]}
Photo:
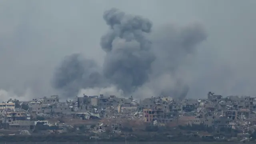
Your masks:
{"label": "plain pale grey hazy sky around the dark smoke plumes, excluding the smoke", "polygon": [[[256,92],[255,0],[0,0],[0,99],[4,92],[54,94],[54,67],[72,53],[102,64],[102,14],[112,7],[149,18],[154,28],[199,22],[208,38],[186,66],[188,97]],[[30,94],[31,94],[30,93]],[[1,95],[2,94],[2,95]]]}

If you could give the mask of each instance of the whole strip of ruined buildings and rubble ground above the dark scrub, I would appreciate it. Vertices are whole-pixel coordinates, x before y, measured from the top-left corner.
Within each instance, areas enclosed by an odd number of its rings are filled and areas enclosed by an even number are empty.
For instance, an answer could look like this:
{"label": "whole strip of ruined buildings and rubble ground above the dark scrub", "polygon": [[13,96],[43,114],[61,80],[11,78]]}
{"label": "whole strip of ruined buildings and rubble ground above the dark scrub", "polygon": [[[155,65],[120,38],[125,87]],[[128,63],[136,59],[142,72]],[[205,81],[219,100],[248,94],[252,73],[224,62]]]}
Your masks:
{"label": "whole strip of ruined buildings and rubble ground above the dark scrub", "polygon": [[[225,134],[223,132],[227,128],[232,129],[238,132],[237,139],[244,142],[251,140],[249,136],[256,131],[256,98],[223,98],[213,92],[209,92],[205,99],[183,100],[158,96],[137,101],[132,96],[118,98],[113,95],[84,95],[66,102],[60,102],[58,96],[28,102],[10,99],[0,104],[0,108],[0,128],[17,130],[20,135],[30,135],[34,131],[46,134],[82,132],[108,135],[133,130],[143,133],[147,125],[173,127],[169,130],[178,130],[178,126],[204,126],[219,134]],[[198,131],[196,135],[200,134],[200,130],[195,130]],[[230,136],[214,136],[214,139],[233,140]]]}

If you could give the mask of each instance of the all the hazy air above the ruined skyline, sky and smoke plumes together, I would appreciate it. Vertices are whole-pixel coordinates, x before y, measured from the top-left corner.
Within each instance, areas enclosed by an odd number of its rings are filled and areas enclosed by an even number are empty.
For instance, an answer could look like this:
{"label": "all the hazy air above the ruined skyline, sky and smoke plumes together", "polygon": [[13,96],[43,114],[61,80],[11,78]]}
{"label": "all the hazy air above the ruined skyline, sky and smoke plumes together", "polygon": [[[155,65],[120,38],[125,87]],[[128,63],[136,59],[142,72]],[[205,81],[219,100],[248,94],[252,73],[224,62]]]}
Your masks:
{"label": "all the hazy air above the ruined skyline, sky and smoke plumes together", "polygon": [[0,98],[254,96],[255,4],[3,0]]}

